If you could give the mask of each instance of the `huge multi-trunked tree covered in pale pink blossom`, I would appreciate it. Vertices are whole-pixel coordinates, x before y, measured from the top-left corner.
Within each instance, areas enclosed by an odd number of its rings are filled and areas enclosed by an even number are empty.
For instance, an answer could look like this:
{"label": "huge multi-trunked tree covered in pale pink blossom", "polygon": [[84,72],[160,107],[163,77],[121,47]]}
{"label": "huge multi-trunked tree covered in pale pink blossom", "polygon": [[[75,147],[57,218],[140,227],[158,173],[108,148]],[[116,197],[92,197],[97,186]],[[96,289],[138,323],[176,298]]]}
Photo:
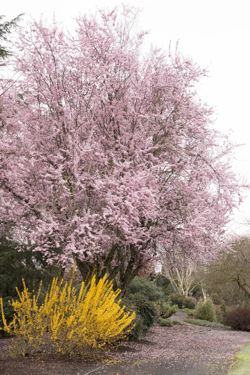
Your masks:
{"label": "huge multi-trunked tree covered in pale pink blossom", "polygon": [[214,254],[242,183],[231,144],[197,98],[206,75],[177,52],[130,35],[123,9],[20,31],[2,95],[0,220],[49,263],[76,259],[85,278],[107,272],[122,289],[173,246]]}

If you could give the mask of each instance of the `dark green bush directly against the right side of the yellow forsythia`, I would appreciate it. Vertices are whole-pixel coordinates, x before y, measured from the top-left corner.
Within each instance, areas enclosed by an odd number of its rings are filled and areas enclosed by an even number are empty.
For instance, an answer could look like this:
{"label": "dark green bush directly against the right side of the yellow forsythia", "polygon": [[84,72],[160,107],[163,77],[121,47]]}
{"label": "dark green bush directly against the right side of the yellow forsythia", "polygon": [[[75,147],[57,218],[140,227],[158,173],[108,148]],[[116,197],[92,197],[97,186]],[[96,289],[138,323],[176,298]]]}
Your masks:
{"label": "dark green bush directly against the right side of the yellow forsythia", "polygon": [[153,303],[141,294],[130,294],[123,298],[122,304],[126,306],[126,311],[135,311],[136,313],[135,321],[132,323],[136,326],[130,332],[129,339],[134,341],[145,336],[158,316]]}

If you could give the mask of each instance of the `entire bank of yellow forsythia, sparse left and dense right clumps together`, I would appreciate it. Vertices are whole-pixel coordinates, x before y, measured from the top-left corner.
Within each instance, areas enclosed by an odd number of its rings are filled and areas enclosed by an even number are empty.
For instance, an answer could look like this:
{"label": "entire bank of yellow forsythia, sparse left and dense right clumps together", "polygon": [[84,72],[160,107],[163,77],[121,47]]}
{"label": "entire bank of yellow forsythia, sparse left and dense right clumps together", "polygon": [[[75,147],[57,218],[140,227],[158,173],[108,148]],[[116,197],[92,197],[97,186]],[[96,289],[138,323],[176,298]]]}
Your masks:
{"label": "entire bank of yellow forsythia, sparse left and dense right clumps together", "polygon": [[93,276],[89,283],[82,282],[76,294],[72,279],[73,275],[63,286],[63,280],[54,278],[40,307],[38,296],[32,297],[23,281],[24,291],[18,291],[20,301],[11,303],[15,315],[9,325],[1,302],[4,330],[16,336],[18,342],[10,348],[12,354],[32,353],[45,341],[51,342],[58,353],[84,354],[119,342],[127,335],[135,312],[124,312],[125,306],[120,306],[120,300],[116,302],[120,290],[112,290],[112,281],[105,275],[96,282]]}

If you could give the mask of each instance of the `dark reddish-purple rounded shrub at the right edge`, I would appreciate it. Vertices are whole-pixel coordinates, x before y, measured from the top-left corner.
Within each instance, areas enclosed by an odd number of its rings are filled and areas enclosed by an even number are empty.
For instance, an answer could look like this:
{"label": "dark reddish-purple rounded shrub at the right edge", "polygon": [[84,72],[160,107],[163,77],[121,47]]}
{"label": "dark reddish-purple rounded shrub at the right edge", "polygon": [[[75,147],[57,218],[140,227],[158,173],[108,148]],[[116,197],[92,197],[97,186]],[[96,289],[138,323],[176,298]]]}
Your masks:
{"label": "dark reddish-purple rounded shrub at the right edge", "polygon": [[225,315],[224,324],[237,330],[250,331],[250,309],[238,308]]}

